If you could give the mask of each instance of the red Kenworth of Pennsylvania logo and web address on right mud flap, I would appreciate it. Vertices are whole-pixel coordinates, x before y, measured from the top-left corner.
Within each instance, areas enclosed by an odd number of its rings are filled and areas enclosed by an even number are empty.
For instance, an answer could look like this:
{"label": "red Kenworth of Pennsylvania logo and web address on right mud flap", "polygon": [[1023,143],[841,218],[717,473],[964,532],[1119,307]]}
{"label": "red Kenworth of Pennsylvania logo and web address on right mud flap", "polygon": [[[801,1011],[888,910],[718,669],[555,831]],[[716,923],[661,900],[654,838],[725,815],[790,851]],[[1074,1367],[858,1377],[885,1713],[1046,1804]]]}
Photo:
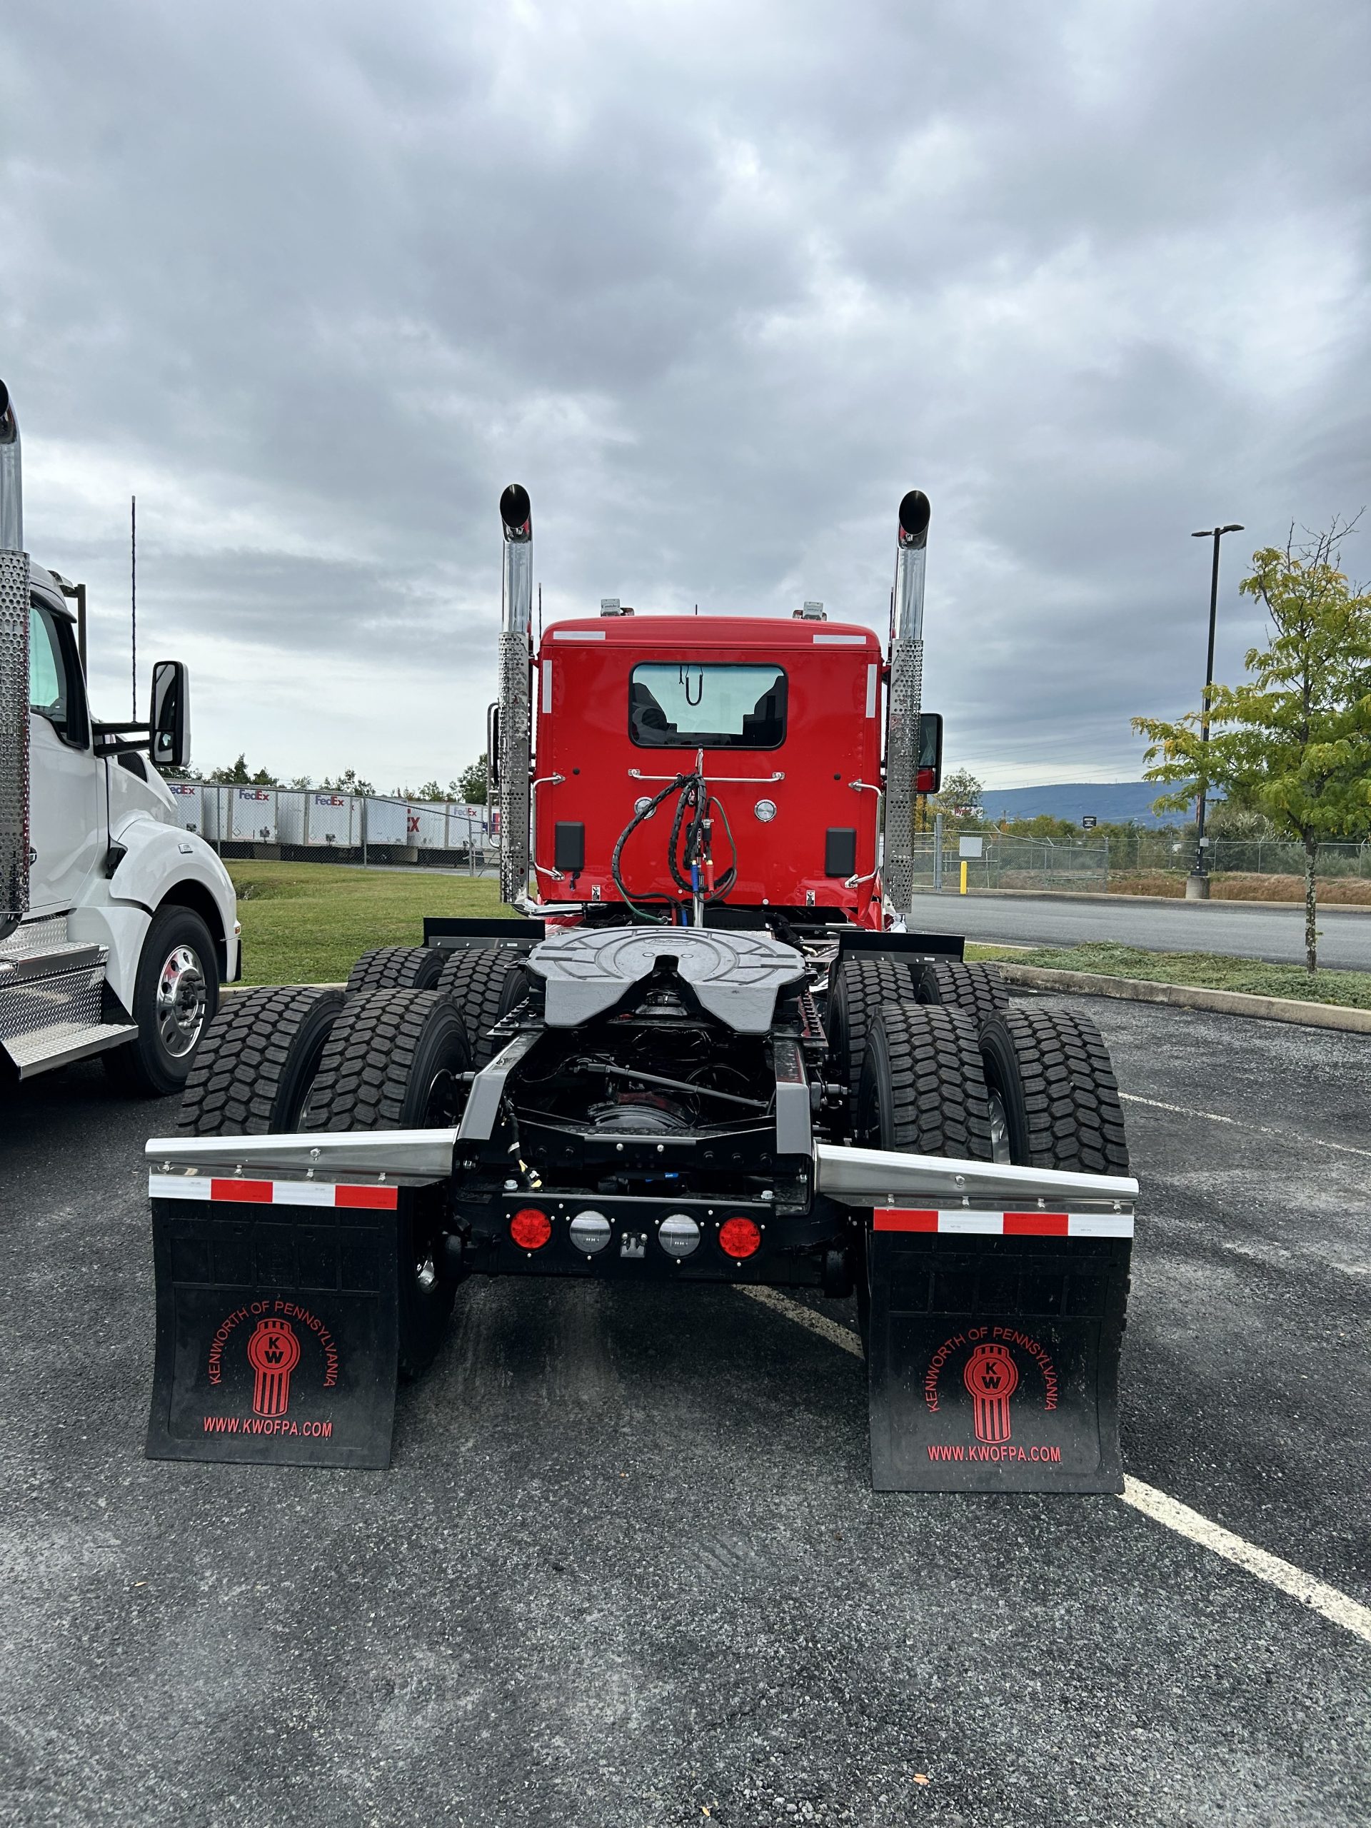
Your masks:
{"label": "red Kenworth of Pennsylvania logo and web address on right mud flap", "polygon": [[[1040,1419],[1057,1411],[1058,1397],[1057,1366],[1042,1340],[1016,1327],[967,1327],[949,1334],[932,1351],[923,1373],[923,1404],[930,1417],[949,1408],[947,1380],[956,1378],[958,1366],[958,1382],[971,1397],[971,1429],[976,1439],[930,1440],[930,1461],[1060,1464],[1060,1446],[1042,1439]],[[1031,1393],[1026,1387],[1016,1395],[1026,1380],[1033,1386]]]}

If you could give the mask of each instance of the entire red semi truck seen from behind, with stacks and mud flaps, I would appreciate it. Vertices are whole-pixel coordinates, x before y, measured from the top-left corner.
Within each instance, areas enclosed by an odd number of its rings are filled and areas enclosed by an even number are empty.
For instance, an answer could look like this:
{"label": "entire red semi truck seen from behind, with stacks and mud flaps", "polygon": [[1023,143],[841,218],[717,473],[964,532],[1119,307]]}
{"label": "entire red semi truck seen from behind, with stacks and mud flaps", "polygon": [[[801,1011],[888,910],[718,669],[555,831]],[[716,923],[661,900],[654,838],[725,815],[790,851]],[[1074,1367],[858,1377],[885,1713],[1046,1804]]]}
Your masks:
{"label": "entire red semi truck seen from behind, with stacks and mud flaps", "polygon": [[885,653],[821,605],[614,600],[536,643],[517,484],[501,519],[512,914],[210,1026],[146,1150],[148,1451],[386,1464],[461,1280],[567,1276],[856,1292],[877,1488],[1119,1490],[1137,1183],[1108,1051],[905,930],[927,497]]}

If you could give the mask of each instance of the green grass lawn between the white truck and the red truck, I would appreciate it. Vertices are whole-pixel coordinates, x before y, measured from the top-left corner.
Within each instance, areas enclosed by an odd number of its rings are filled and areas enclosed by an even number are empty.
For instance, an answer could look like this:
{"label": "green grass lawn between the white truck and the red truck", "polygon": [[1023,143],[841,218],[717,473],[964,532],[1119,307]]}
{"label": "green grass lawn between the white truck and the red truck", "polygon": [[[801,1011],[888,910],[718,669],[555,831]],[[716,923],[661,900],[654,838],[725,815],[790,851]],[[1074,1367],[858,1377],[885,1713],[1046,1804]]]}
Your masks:
{"label": "green grass lawn between the white truck and the red truck", "polygon": [[243,923],[243,983],[338,983],[377,945],[420,945],[424,914],[508,914],[492,876],[225,859]]}

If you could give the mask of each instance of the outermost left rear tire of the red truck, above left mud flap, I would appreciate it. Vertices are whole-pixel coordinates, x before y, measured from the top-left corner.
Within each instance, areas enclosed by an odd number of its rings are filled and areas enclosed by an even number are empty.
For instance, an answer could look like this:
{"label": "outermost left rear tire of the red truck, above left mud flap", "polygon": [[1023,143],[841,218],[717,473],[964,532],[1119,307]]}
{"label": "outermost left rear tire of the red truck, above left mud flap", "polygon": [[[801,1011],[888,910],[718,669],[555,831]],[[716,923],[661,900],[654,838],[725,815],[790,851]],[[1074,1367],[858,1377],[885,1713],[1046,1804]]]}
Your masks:
{"label": "outermost left rear tire of the red truck, above left mud flap", "polygon": [[342,1005],[342,991],[318,985],[234,996],[205,1029],[177,1130],[197,1137],[296,1130]]}

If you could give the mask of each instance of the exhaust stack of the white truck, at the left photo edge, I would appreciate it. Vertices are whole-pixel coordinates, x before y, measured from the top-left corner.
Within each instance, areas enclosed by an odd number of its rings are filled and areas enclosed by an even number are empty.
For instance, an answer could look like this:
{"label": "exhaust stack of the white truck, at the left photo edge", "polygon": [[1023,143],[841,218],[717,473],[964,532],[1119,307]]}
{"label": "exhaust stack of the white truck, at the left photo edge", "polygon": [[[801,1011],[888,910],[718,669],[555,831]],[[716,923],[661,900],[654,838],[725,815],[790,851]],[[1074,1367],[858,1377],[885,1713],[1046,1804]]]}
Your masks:
{"label": "exhaust stack of the white truck, at the left photo edge", "polygon": [[18,419],[0,380],[0,940],[29,910],[29,556]]}

